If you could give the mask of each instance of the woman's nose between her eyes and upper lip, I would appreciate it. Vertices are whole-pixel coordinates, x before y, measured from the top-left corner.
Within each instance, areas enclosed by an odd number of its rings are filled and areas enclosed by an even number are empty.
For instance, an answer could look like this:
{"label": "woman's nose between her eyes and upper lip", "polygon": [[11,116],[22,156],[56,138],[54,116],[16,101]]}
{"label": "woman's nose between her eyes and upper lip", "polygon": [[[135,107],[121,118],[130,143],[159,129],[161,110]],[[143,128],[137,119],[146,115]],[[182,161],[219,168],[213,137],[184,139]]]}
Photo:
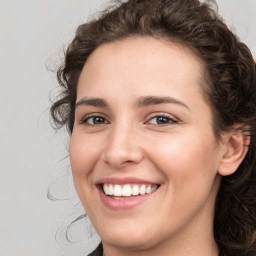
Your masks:
{"label": "woman's nose between her eyes and upper lip", "polygon": [[134,127],[115,125],[107,137],[103,153],[104,162],[114,168],[139,163],[143,158],[139,134]]}

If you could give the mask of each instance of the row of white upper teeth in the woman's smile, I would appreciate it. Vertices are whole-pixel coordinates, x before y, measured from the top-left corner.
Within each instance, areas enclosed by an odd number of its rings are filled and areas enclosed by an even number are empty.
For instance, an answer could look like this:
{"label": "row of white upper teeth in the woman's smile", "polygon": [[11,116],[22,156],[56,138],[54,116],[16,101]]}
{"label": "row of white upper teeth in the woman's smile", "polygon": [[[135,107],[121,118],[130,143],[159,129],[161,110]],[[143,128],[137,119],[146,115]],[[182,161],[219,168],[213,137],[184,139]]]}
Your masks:
{"label": "row of white upper teeth in the woman's smile", "polygon": [[137,184],[125,184],[123,186],[109,183],[103,184],[103,190],[106,195],[125,196],[126,198],[131,195],[149,194],[156,189],[157,185],[141,184],[139,187],[139,185]]}

